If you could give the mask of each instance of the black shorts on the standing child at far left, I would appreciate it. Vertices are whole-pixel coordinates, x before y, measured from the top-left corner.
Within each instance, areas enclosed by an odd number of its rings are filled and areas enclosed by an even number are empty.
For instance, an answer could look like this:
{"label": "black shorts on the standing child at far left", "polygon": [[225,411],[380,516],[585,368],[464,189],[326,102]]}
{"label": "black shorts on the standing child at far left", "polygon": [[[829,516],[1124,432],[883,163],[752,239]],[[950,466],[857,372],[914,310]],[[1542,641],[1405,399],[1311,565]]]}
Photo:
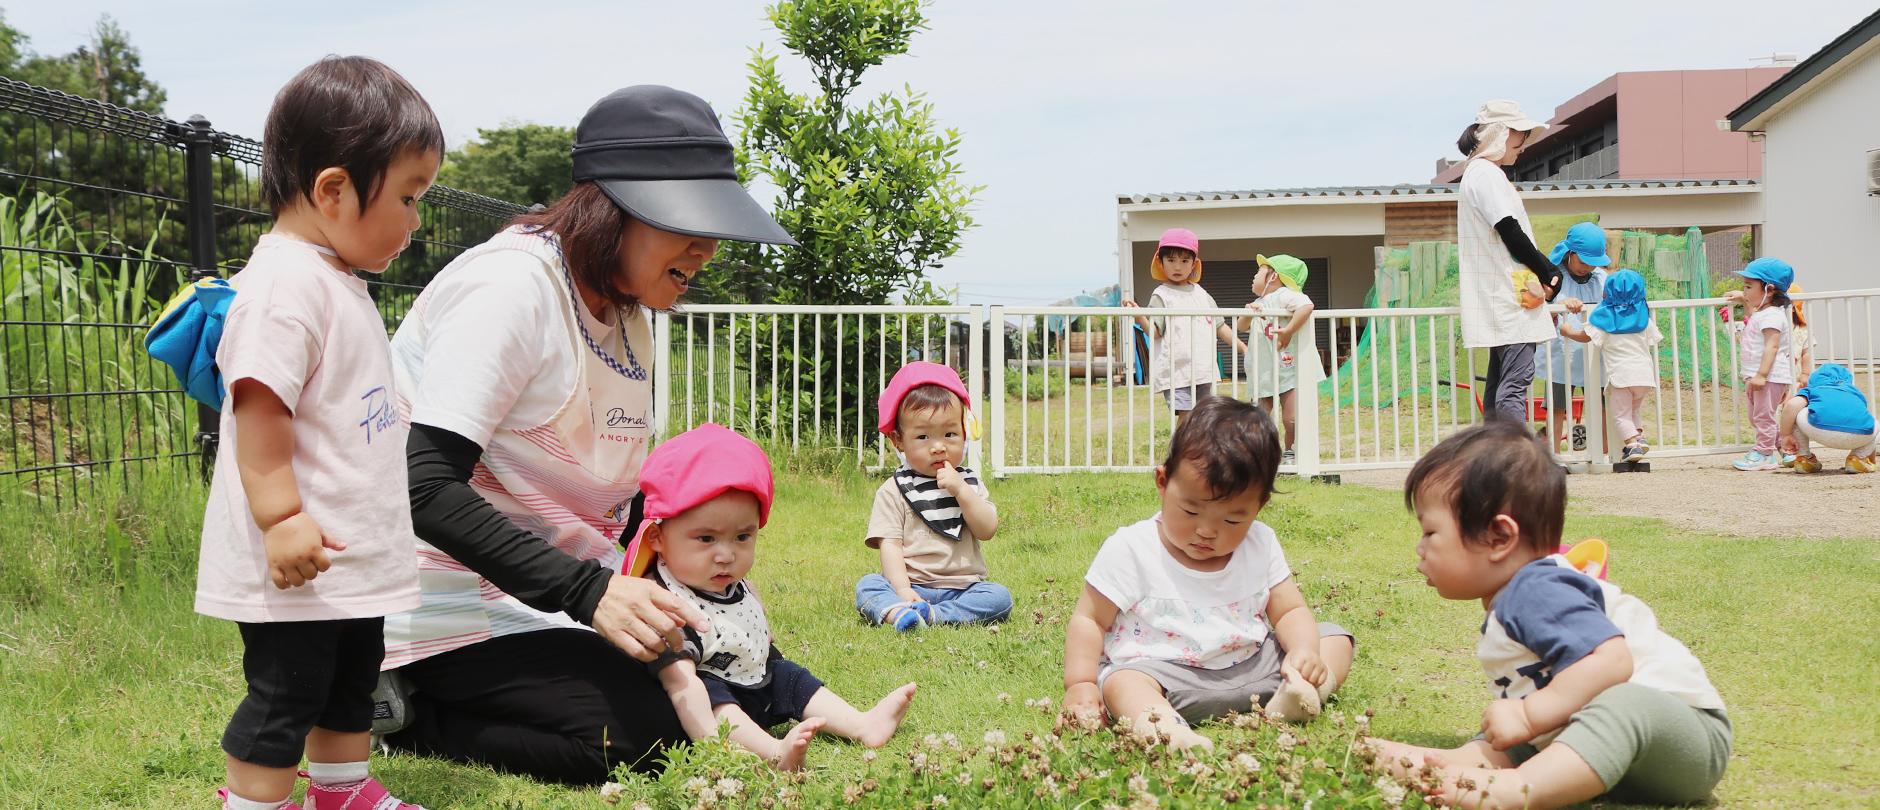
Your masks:
{"label": "black shorts on the standing child at far left", "polygon": [[248,695],[222,733],[227,755],[291,769],[316,725],[340,733],[372,729],[372,690],[385,660],[384,616],[237,626]]}

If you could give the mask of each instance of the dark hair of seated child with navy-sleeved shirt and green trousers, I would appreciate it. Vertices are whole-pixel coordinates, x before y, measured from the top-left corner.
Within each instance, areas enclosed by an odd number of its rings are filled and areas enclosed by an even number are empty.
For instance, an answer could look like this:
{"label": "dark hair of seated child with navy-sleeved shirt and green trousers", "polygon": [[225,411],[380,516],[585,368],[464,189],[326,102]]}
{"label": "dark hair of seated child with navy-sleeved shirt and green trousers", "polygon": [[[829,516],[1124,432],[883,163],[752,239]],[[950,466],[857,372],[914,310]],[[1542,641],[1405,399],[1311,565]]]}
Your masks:
{"label": "dark hair of seated child with navy-sleeved shirt and green trousers", "polygon": [[[1404,479],[1404,507],[1438,498],[1465,543],[1483,545],[1495,515],[1521,528],[1521,543],[1553,554],[1566,526],[1566,472],[1527,425],[1495,419],[1436,444]],[[1431,504],[1423,504],[1431,506]]]}

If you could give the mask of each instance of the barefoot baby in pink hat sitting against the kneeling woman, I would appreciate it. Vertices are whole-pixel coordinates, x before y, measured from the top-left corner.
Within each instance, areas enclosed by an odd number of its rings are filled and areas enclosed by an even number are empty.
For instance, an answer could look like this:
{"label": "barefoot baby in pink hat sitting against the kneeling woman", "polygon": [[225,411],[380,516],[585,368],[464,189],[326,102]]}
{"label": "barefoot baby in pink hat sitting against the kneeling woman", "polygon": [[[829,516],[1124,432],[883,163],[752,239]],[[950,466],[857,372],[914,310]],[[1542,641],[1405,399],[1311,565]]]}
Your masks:
{"label": "barefoot baby in pink hat sitting against the kneeling woman", "polygon": [[[722,425],[699,425],[647,455],[639,487],[647,521],[628,549],[628,573],[645,571],[711,622],[705,633],[684,628],[684,648],[650,663],[686,737],[716,737],[718,722],[729,722],[731,742],[780,771],[803,769],[816,731],[887,744],[916,686],[867,712],[848,705],[776,650],[763,601],[744,579],[775,492],[763,449]],[[782,739],[765,731],[786,720],[797,725]]]}

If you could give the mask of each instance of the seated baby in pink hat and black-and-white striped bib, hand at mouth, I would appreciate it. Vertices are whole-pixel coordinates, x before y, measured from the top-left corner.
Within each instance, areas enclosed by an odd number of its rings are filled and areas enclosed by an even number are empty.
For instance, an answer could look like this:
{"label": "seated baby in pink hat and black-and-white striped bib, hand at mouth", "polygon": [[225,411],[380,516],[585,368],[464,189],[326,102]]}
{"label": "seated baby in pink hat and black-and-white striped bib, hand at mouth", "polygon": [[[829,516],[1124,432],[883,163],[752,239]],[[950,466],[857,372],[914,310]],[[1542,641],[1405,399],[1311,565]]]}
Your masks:
{"label": "seated baby in pink hat and black-and-white striped bib, hand at mouth", "polygon": [[1011,613],[1011,592],[985,581],[979,543],[998,532],[985,483],[959,466],[966,455],[972,400],[959,374],[938,363],[908,363],[878,400],[880,430],[904,462],[874,492],[870,549],[882,573],[855,583],[855,609],[878,624],[996,622]]}

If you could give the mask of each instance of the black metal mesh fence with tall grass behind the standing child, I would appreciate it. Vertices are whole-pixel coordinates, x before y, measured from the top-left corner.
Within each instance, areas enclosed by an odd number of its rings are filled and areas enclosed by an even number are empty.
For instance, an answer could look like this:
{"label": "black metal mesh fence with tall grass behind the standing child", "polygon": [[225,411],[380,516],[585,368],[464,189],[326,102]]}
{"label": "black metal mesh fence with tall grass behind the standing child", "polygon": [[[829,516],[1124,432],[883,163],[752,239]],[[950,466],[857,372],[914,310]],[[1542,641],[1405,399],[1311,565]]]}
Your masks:
{"label": "black metal mesh fence with tall grass behind the standing child", "polygon": [[[216,413],[143,351],[184,284],[241,269],[269,214],[261,145],[0,79],[0,492],[60,498],[139,464],[196,464]],[[368,276],[395,329],[423,286],[525,209],[434,186]]]}

